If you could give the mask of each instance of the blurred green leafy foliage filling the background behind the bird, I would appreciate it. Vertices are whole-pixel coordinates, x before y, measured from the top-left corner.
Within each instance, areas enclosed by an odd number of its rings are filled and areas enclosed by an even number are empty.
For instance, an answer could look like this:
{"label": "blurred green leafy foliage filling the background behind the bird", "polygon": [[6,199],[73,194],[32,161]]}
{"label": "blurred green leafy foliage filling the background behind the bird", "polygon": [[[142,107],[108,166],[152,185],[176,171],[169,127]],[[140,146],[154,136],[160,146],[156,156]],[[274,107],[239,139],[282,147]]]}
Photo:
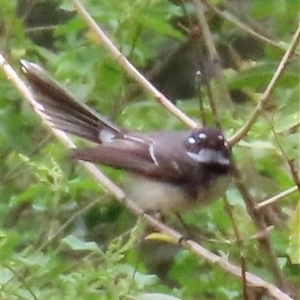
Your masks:
{"label": "blurred green leafy foliage filling the background behind the bird", "polygon": [[[182,49],[194,38],[184,28],[198,26],[194,21],[194,6],[188,2],[182,5],[178,1],[157,0],[82,2],[124,55],[154,81],[157,70],[164,69],[164,63],[168,62],[166,58],[174,54],[171,61],[178,61],[182,57],[176,54],[183,55]],[[235,7],[230,2],[239,5]],[[184,128],[126,76],[72,11],[69,1],[53,1],[53,11],[49,11],[47,3],[0,2],[1,52],[17,70],[23,58],[39,63],[79,101],[128,129]],[[230,60],[235,63],[224,68],[227,87],[243,95],[233,97],[232,108],[222,97],[217,103],[222,127],[226,136],[231,136],[248,120],[287,49],[297,27],[299,3],[297,0],[210,3],[238,16],[275,42],[274,46],[254,39],[236,23],[207,9],[216,44],[234,52],[234,59]],[[50,25],[31,23],[28,15],[37,21],[35,14],[41,11],[34,13],[34,8],[43,7],[46,15],[59,15],[60,21],[57,19]],[[34,35],[40,31],[51,32],[46,46]],[[204,43],[201,38],[199,42]],[[226,51],[220,53],[223,60]],[[297,51],[277,81],[268,105],[247,136],[233,148],[247,191],[256,202],[295,185],[290,166],[299,167],[299,48]],[[205,61],[205,52],[199,55]],[[185,56],[184,62],[188,63]],[[180,76],[183,78],[183,72],[179,72]],[[189,79],[193,85],[194,78]],[[199,120],[196,94],[189,101],[176,100],[180,109]],[[201,86],[201,95],[205,119],[212,124],[214,116],[205,86]],[[241,299],[241,280],[225,276],[224,270],[176,245],[144,242],[145,225],[70,162],[66,150],[46,132],[2,75],[0,114],[1,299],[138,299],[137,295],[142,293],[148,295],[139,299],[150,299],[151,294],[158,297],[157,293],[187,300]],[[110,168],[104,171],[116,182],[124,177],[120,171]],[[242,253],[247,270],[277,284],[267,263],[268,254],[259,247],[260,233],[238,189],[233,186],[227,198],[231,215],[224,202],[218,201],[185,214],[184,221],[203,246],[236,264],[240,263]],[[296,265],[299,264],[299,193],[284,197],[260,213],[268,225],[282,277],[296,289],[300,274]],[[242,245],[237,242],[232,219]],[[178,222],[174,226],[181,228]],[[289,292],[297,293],[293,289]]]}

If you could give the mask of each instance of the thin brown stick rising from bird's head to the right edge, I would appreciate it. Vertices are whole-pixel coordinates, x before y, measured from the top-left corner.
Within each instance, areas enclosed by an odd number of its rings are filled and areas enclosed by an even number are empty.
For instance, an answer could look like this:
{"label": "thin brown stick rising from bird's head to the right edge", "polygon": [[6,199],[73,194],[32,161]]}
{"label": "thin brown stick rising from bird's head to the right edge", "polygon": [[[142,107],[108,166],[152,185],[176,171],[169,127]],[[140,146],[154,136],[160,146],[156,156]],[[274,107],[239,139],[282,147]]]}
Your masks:
{"label": "thin brown stick rising from bird's head to the right edge", "polygon": [[293,39],[291,41],[290,47],[283,55],[276,72],[274,73],[271,81],[269,82],[266,90],[264,91],[259,103],[255,107],[252,115],[250,118],[246,121],[243,127],[241,127],[232,137],[229,138],[228,143],[230,145],[234,145],[237,142],[239,142],[242,138],[244,138],[248,131],[251,129],[252,125],[255,123],[256,119],[260,115],[260,113],[264,110],[266,104],[268,103],[270,96],[274,90],[275,84],[277,83],[279,77],[282,75],[284,69],[288,65],[290,58],[294,55],[296,48],[298,46],[300,40],[300,23],[298,25],[298,28],[293,36]]}

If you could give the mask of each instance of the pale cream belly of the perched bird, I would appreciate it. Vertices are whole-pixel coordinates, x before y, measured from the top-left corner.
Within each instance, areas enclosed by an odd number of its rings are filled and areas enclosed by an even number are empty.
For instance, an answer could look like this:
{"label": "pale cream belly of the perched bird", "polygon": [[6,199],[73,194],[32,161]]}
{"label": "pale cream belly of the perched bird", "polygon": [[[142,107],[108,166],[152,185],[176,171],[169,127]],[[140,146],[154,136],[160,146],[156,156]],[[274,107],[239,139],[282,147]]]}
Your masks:
{"label": "pale cream belly of the perched bird", "polygon": [[208,204],[222,197],[231,181],[229,176],[220,176],[214,182],[213,188],[201,188],[196,199],[191,199],[181,188],[172,184],[135,175],[129,176],[124,186],[127,195],[146,212],[181,212]]}

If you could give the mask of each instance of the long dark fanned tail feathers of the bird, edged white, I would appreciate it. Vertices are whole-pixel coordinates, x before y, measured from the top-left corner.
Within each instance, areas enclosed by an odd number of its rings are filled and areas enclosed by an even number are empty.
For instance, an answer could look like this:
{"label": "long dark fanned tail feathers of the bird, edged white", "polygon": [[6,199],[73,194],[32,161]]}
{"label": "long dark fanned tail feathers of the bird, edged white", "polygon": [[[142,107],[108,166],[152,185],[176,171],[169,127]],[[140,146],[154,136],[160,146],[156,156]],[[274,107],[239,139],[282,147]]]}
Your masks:
{"label": "long dark fanned tail feathers of the bird, edged white", "polygon": [[76,102],[73,96],[41,67],[24,60],[21,64],[37,104],[35,108],[40,110],[55,128],[96,143],[102,142],[102,130],[112,136],[121,132],[120,128],[97,112]]}

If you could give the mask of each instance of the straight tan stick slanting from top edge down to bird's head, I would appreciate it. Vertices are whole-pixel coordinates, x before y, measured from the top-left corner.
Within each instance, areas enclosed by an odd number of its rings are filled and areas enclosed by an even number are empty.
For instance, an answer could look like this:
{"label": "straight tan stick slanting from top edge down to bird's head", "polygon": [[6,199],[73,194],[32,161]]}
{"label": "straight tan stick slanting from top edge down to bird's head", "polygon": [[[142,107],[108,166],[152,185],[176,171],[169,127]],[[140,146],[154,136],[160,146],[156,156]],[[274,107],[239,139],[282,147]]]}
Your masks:
{"label": "straight tan stick slanting from top edge down to bird's head", "polygon": [[158,102],[160,102],[168,111],[170,111],[174,116],[183,121],[189,127],[198,127],[195,121],[185,115],[180,109],[178,109],[170,100],[168,100],[159,90],[157,90],[118,50],[118,48],[112,43],[112,41],[107,37],[104,31],[97,25],[97,23],[91,18],[89,13],[77,0],[73,1],[76,10],[86,21],[90,29],[96,34],[100,39],[102,44],[109,50],[113,58],[123,67],[126,73],[134,78],[144,89],[149,92]]}

